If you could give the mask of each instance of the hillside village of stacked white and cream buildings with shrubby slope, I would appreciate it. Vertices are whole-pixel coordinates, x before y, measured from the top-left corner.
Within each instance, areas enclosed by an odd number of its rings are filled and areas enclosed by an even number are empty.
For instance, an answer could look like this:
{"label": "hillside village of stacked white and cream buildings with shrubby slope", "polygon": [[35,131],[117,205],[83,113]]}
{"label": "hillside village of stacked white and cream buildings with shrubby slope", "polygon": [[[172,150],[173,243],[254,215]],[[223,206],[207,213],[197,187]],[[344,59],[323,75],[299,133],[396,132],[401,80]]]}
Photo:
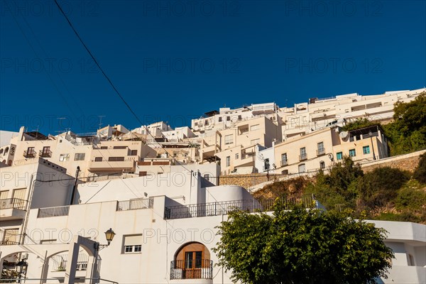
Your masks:
{"label": "hillside village of stacked white and cream buildings with shrubby slope", "polygon": [[406,109],[425,92],[224,107],[175,129],[1,131],[0,269],[25,261],[26,283],[229,283],[215,226],[281,197],[366,214],[395,252],[383,283],[425,283],[425,112]]}

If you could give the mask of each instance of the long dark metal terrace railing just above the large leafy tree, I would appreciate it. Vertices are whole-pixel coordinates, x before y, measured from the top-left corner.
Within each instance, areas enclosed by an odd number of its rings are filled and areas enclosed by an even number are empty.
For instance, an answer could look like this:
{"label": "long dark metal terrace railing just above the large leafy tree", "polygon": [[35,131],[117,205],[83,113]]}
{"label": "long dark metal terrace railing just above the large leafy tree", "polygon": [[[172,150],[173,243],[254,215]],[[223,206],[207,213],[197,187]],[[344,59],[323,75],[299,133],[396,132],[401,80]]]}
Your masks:
{"label": "long dark metal terrace railing just above the large leafy tree", "polygon": [[[278,202],[290,209],[294,204],[301,203],[305,207],[312,207],[315,197],[306,195],[300,198],[280,199]],[[271,200],[234,200],[224,202],[210,202],[190,205],[165,207],[164,219],[182,219],[193,217],[206,217],[229,214],[229,212],[241,209],[247,212],[271,211],[275,199]]]}

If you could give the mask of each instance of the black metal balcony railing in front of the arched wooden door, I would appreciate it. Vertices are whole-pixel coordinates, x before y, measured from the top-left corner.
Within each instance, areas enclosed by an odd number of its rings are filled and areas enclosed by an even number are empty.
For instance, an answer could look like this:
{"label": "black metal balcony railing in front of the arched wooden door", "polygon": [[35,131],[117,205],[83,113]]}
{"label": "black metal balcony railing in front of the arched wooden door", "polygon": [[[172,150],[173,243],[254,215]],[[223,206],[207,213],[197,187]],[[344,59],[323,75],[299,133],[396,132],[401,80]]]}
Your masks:
{"label": "black metal balcony railing in front of the arched wooden door", "polygon": [[173,279],[213,279],[213,261],[209,259],[171,261],[170,280]]}

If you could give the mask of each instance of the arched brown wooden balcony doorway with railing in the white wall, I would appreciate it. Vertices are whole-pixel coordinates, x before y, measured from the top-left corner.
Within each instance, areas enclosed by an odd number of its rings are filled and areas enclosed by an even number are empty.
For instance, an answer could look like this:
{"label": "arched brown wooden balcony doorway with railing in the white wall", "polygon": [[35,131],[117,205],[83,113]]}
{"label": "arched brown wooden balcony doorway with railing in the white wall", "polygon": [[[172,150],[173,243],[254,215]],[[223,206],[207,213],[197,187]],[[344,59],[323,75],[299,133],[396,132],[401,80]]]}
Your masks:
{"label": "arched brown wooden balcony doorway with railing in the white wall", "polygon": [[212,274],[213,262],[204,244],[194,241],[176,251],[170,279],[212,279]]}

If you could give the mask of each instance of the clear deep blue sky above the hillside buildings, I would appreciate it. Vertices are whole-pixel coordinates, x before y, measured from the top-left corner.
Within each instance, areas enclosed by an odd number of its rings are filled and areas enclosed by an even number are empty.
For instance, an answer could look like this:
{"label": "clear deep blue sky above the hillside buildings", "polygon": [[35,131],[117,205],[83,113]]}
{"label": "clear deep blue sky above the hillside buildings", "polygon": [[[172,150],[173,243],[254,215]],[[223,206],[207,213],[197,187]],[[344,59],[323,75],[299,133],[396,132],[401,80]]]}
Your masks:
{"label": "clear deep blue sky above the hillside buildings", "polygon": [[[146,124],[426,85],[425,1],[58,1]],[[53,1],[0,13],[0,129],[140,126]]]}

